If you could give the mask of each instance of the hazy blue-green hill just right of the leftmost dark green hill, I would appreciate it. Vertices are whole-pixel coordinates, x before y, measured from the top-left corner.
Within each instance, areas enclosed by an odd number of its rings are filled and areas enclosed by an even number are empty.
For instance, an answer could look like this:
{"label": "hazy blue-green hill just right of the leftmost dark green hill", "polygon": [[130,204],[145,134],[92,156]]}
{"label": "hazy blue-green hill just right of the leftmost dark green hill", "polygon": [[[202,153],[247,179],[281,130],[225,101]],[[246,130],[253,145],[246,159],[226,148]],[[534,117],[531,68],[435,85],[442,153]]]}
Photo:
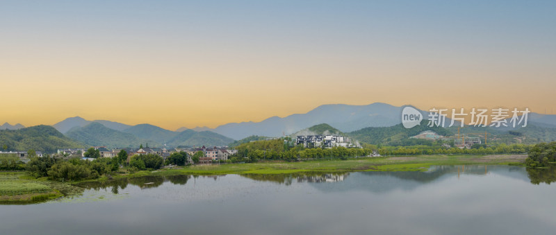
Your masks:
{"label": "hazy blue-green hill just right of the leftmost dark green hill", "polygon": [[141,143],[156,145],[154,141],[139,139],[133,134],[113,130],[96,122],[85,125],[83,128],[72,128],[65,135],[90,146],[107,146],[108,148],[137,147]]}

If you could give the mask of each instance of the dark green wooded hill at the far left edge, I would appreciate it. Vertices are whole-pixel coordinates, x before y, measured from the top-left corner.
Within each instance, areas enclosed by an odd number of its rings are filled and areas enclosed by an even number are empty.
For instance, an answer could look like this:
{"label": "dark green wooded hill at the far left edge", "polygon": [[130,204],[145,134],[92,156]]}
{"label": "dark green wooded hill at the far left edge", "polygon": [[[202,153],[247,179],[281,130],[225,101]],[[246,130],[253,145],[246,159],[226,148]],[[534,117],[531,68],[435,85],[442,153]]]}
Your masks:
{"label": "dark green wooded hill at the far left edge", "polygon": [[0,146],[6,147],[5,150],[8,151],[33,149],[43,153],[54,153],[58,148],[85,147],[49,125],[36,125],[19,130],[0,130]]}

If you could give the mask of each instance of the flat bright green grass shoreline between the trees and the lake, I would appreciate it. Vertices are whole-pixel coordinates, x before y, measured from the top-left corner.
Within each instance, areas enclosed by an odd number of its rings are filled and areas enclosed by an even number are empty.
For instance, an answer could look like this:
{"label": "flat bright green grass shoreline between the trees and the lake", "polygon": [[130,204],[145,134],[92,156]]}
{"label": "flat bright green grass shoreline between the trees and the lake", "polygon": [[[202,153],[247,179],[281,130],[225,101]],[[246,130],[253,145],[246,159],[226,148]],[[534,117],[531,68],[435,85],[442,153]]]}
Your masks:
{"label": "flat bright green grass shoreline between the trees and the lake", "polygon": [[[306,160],[301,162],[268,161],[245,164],[210,164],[178,166],[163,168],[156,171],[138,171],[136,173],[104,175],[95,180],[79,180],[74,182],[56,182],[47,177],[34,179],[24,171],[0,173],[17,174],[20,182],[36,182],[49,186],[55,195],[49,199],[30,200],[32,197],[20,196],[20,200],[0,200],[0,204],[40,203],[52,198],[72,197],[83,191],[79,184],[85,182],[106,182],[123,178],[143,176],[170,175],[278,175],[294,173],[347,173],[361,171],[427,171],[430,166],[448,165],[512,165],[524,166],[528,155],[407,155],[399,157],[358,157],[347,160]],[[22,199],[27,200],[22,200]]]}

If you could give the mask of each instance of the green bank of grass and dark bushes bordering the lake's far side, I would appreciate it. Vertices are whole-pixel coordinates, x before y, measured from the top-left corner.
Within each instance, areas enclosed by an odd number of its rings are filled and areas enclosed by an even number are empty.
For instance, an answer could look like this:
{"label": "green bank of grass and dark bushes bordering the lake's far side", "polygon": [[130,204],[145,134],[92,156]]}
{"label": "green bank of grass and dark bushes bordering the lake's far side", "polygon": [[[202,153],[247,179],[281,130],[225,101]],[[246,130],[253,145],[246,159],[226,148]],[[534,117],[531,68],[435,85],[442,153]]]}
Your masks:
{"label": "green bank of grass and dark bushes bordering the lake's far side", "polygon": [[[180,163],[185,153],[171,159]],[[186,155],[185,155],[186,156]],[[104,182],[120,178],[172,175],[224,175],[224,174],[292,174],[292,173],[344,173],[351,171],[427,171],[435,165],[465,164],[521,164],[527,155],[420,155],[404,157],[358,157],[341,159],[313,159],[287,162],[279,159],[261,160],[250,164],[205,164],[172,166],[158,169],[162,158],[156,155],[132,157],[132,162],[142,162],[142,171],[132,164],[117,162],[117,157],[100,158],[94,161],[62,159],[44,156],[31,159],[27,173],[3,173],[10,175],[9,183],[0,184],[1,200],[33,202],[61,195],[79,195],[82,188],[72,186],[81,182]],[[144,161],[144,162],[143,162]],[[166,162],[169,163],[170,161]],[[118,166],[117,168],[114,166]],[[155,168],[147,168],[154,166]],[[14,176],[15,174],[19,174]],[[8,178],[4,178],[6,180]],[[151,181],[152,182],[152,181]],[[72,184],[68,184],[72,183]],[[46,186],[46,187],[45,187]],[[10,189],[8,191],[8,189]],[[81,191],[80,191],[81,190]],[[12,193],[11,195],[9,193]],[[17,195],[16,195],[17,194]]]}

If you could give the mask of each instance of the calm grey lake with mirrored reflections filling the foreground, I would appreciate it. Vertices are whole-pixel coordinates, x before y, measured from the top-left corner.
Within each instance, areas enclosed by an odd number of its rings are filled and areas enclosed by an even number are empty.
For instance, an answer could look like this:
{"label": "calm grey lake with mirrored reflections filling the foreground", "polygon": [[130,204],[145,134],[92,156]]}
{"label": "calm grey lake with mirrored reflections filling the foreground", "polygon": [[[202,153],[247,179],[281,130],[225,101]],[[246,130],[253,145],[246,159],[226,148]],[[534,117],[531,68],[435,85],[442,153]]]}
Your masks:
{"label": "calm grey lake with mirrored reflections filling the foreground", "polygon": [[[1,234],[553,234],[556,169],[137,177],[0,205]],[[534,183],[532,183],[534,182]]]}

